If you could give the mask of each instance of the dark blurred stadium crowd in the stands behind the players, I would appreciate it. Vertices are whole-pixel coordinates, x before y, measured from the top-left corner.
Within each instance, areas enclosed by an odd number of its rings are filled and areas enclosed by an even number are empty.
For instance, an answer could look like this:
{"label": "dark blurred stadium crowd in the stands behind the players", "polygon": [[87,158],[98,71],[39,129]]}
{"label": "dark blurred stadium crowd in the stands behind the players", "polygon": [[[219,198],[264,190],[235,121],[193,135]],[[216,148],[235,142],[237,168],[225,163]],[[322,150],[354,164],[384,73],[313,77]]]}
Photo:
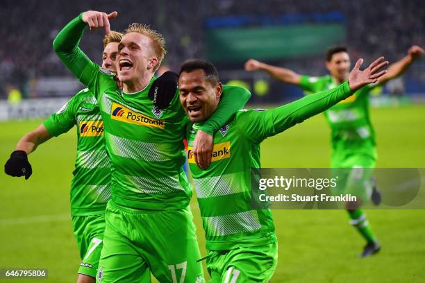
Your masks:
{"label": "dark blurred stadium crowd in the stands behind the players", "polygon": [[[110,0],[5,0],[0,8],[0,16],[8,19],[0,26],[0,97],[6,98],[9,84],[24,89],[33,79],[70,76],[51,47],[58,29],[82,10],[108,12],[111,6],[116,6],[119,12],[112,22],[113,28],[122,30],[131,22],[143,22],[165,35],[168,49],[165,64],[172,69],[177,69],[187,58],[203,58],[205,20],[228,15],[341,12],[347,22],[347,45],[354,58],[360,54],[366,55],[365,58],[385,55],[391,62],[401,58],[411,44],[424,44],[425,9],[420,0],[376,0],[373,7],[367,0],[270,0],[264,5],[258,5],[256,0],[245,0],[243,5],[236,0],[128,0],[119,3]],[[101,31],[92,33],[82,42],[83,50],[90,58],[98,58],[98,62],[102,36]],[[394,42],[397,44],[392,44]],[[321,74],[324,71],[323,58],[313,62],[287,60],[285,65],[301,73]],[[420,76],[414,70],[408,76]]]}

